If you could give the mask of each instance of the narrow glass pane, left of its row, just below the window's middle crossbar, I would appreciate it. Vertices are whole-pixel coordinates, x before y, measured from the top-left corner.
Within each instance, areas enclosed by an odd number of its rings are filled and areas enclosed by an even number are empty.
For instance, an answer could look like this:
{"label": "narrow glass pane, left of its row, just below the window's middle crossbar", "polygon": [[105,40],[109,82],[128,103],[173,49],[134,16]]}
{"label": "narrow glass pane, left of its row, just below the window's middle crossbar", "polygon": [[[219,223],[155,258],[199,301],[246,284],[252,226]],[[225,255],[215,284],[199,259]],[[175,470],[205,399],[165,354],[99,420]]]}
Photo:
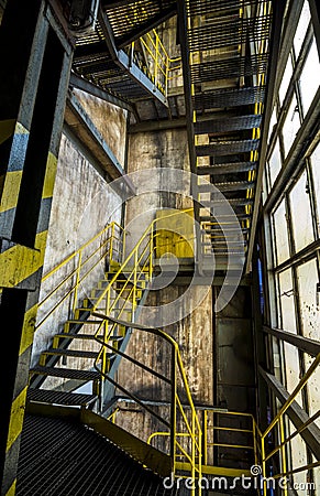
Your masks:
{"label": "narrow glass pane, left of its row, just below the window's middle crossbar", "polygon": [[282,311],[282,328],[296,333],[294,283],[291,269],[279,273],[279,299]]}

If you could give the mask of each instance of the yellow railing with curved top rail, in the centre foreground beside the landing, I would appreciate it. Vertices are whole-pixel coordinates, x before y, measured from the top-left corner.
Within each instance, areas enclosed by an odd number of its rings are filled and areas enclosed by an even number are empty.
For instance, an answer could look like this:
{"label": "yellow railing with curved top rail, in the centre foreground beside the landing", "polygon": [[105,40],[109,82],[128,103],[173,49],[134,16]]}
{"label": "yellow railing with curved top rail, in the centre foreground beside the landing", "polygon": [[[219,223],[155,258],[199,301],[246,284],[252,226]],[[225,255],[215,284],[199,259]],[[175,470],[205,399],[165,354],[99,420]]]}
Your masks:
{"label": "yellow railing with curved top rail, in the centre foreground beside the landing", "polygon": [[[168,436],[169,438],[169,455],[172,457],[172,470],[174,476],[177,476],[178,464],[177,459],[180,461],[186,461],[186,463],[190,466],[189,476],[194,481],[194,487],[191,489],[191,495],[201,494],[201,488],[197,488],[196,492],[196,481],[201,478],[201,466],[202,466],[202,432],[200,422],[197,416],[197,411],[194,405],[192,396],[190,392],[190,388],[188,385],[186,371],[184,369],[179,346],[177,342],[164,331],[158,328],[151,328],[144,325],[120,321],[118,319],[111,319],[108,315],[103,315],[100,313],[93,312],[92,315],[97,319],[101,319],[101,322],[104,323],[104,326],[108,327],[109,323],[111,324],[111,328],[113,326],[122,326],[125,332],[131,328],[135,332],[143,332],[153,334],[163,338],[170,346],[170,377],[166,377],[161,375],[159,373],[153,370],[148,366],[135,360],[133,357],[118,351],[114,346],[110,344],[109,338],[106,341],[96,334],[96,339],[101,344],[101,351],[98,354],[95,367],[96,369],[102,374],[102,377],[110,381],[113,386],[115,386],[120,391],[122,391],[126,397],[131,398],[135,403],[140,405],[145,411],[155,417],[161,423],[166,425],[168,429],[165,432],[157,432],[157,435]],[[110,334],[109,334],[110,337]],[[152,408],[143,402],[135,393],[132,393],[126,388],[121,386],[121,384],[117,382],[114,379],[108,376],[107,371],[102,371],[103,367],[103,355],[108,351],[111,351],[115,355],[120,355],[122,358],[125,358],[132,362],[134,365],[141,367],[143,370],[152,374],[157,379],[163,380],[170,387],[170,420],[168,421],[166,418],[159,416],[159,413],[155,412]],[[181,396],[187,399],[187,403],[183,405]],[[114,413],[114,412],[113,412]],[[114,416],[111,413],[109,418],[112,418],[114,421]],[[155,434],[153,434],[154,436]],[[184,440],[187,439],[187,443]]]}

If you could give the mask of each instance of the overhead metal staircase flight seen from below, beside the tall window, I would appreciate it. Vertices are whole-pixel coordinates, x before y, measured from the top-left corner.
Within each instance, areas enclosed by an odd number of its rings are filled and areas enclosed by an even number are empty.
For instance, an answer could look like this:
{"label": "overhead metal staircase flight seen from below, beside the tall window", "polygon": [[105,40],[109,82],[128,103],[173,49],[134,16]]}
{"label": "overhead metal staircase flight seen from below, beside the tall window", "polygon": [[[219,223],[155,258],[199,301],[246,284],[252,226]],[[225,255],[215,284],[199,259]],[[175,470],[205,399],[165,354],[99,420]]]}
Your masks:
{"label": "overhead metal staircase flight seen from below, beside the tall window", "polygon": [[[244,262],[252,228],[272,35],[268,0],[178,1],[194,195],[200,252],[223,271]],[[223,193],[235,219],[219,218]],[[209,198],[208,198],[209,194]],[[241,237],[239,236],[239,228]]]}

